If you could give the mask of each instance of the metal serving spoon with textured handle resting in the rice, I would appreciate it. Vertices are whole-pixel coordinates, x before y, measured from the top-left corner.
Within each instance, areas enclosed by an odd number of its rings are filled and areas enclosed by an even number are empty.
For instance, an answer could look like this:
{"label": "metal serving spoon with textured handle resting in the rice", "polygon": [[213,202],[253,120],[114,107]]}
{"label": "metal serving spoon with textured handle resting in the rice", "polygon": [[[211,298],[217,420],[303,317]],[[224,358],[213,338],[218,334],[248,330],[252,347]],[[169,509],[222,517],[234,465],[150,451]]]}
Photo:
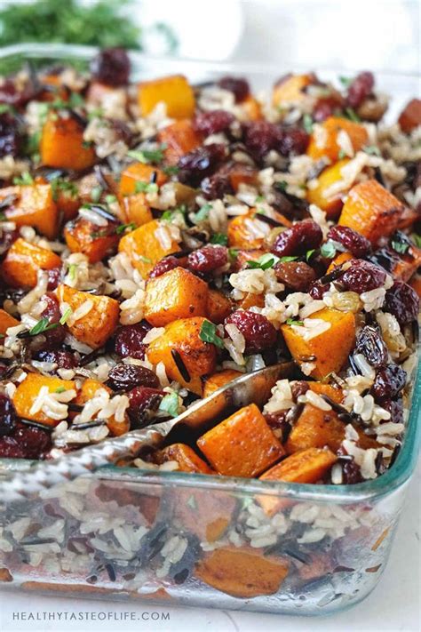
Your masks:
{"label": "metal serving spoon with textured handle resting in the rice", "polygon": [[165,444],[187,441],[187,437],[191,442],[230,412],[247,404],[266,404],[277,380],[291,378],[296,372],[297,367],[291,362],[267,366],[218,388],[173,420],[132,430],[115,439],[106,439],[101,444],[68,452],[59,459],[39,461],[23,472],[8,472],[0,479],[0,502],[35,498],[56,484],[71,481],[122,459],[135,458],[145,448],[156,449]]}

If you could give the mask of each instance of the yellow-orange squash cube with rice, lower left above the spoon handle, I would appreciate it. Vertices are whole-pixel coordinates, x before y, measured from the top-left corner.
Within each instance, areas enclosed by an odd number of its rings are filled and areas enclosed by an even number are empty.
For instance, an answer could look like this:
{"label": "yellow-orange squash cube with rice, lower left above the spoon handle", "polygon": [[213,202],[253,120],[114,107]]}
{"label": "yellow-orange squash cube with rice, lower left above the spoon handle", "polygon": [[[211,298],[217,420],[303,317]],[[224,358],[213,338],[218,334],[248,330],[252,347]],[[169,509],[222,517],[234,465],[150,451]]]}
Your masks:
{"label": "yellow-orange squash cube with rice, lower left above the spoon handle", "polygon": [[[25,380],[20,382],[12,396],[13,405],[19,417],[27,420],[39,421],[47,426],[57,426],[60,420],[54,420],[49,417],[48,403],[43,404],[42,397],[36,399],[40,395],[41,388],[46,388],[48,393],[60,393],[64,391],[73,391],[73,399],[76,396],[75,382],[71,380],[60,380],[60,378],[50,378],[39,373],[28,373]],[[70,394],[71,395],[71,394]],[[70,401],[70,399],[68,400]]]}

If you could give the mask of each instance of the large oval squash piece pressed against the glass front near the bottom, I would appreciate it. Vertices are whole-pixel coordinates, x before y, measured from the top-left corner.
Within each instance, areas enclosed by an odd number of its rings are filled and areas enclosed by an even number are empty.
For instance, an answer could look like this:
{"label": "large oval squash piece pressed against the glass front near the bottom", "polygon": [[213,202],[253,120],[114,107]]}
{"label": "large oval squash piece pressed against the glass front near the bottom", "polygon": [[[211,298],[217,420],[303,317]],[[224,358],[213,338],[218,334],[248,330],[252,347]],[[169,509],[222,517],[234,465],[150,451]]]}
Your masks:
{"label": "large oval squash piece pressed against the glass front near the bottom", "polygon": [[256,548],[217,548],[197,564],[195,576],[227,595],[273,595],[288,575],[289,564]]}

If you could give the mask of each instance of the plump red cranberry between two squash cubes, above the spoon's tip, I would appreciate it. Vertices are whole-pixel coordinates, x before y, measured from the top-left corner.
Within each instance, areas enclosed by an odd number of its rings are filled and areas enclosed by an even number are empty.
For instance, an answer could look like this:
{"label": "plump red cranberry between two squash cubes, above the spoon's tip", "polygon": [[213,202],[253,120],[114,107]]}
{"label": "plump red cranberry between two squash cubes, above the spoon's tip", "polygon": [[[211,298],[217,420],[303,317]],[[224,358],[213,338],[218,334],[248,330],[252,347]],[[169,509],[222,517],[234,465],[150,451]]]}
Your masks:
{"label": "plump red cranberry between two squash cubes, above the spoon's tip", "polygon": [[225,324],[234,324],[242,333],[246,342],[247,354],[260,353],[264,349],[271,348],[276,342],[276,330],[266,316],[238,309],[228,316]]}

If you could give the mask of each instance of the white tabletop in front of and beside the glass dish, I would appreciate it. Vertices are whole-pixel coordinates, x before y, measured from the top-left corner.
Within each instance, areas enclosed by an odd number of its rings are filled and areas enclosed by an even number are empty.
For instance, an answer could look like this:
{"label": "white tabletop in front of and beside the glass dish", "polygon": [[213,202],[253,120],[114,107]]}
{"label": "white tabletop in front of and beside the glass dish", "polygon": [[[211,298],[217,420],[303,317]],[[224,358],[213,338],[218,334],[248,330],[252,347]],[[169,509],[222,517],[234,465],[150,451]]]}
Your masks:
{"label": "white tabletop in front of and beside the glass dish", "polygon": [[[380,583],[365,601],[352,610],[329,617],[286,617],[252,612],[228,612],[204,608],[167,608],[139,603],[36,596],[23,592],[0,591],[0,632],[418,632],[420,618],[420,483],[421,468],[409,485],[405,508],[396,534],[392,555]],[[46,620],[16,620],[13,612],[40,613]],[[44,615],[43,613],[46,613]],[[52,612],[111,613],[129,620],[48,620]],[[169,620],[151,620],[152,612],[169,613]],[[68,615],[69,616],[69,615]],[[101,616],[101,615],[99,615]],[[135,620],[133,620],[135,619]]]}

